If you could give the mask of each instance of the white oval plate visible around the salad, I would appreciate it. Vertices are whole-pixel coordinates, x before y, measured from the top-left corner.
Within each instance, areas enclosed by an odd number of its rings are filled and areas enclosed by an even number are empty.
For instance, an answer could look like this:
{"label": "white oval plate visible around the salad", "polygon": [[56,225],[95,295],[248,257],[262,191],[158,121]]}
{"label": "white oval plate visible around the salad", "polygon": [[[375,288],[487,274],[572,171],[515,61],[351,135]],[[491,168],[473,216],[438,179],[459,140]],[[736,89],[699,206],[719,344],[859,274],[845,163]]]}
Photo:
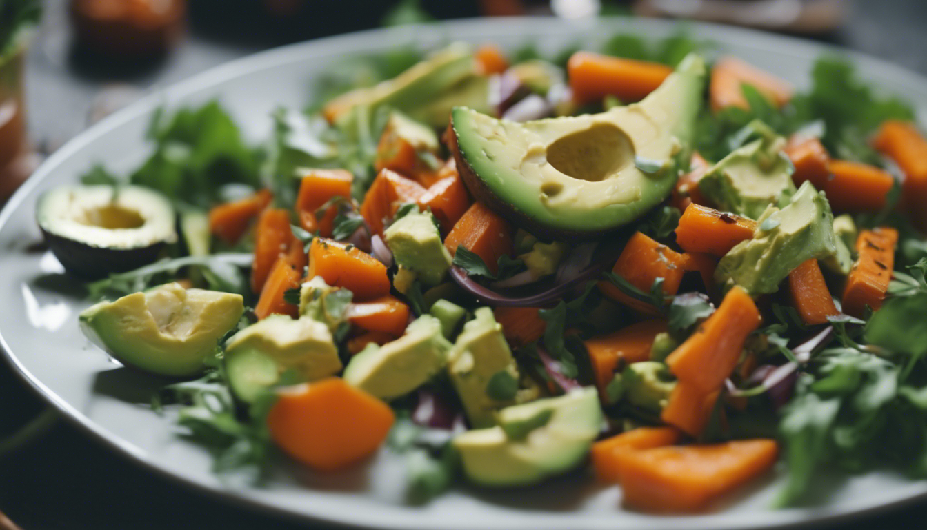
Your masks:
{"label": "white oval plate visible around the salad", "polygon": [[[697,37],[716,41],[719,51],[735,53],[799,87],[808,84],[814,58],[834,51],[721,26],[692,24],[689,29]],[[781,482],[780,470],[767,484],[732,499],[721,511],[661,517],[624,511],[619,508],[616,486],[595,485],[588,477],[574,474],[521,490],[463,486],[424,507],[413,507],[402,501],[401,460],[386,453],[368,465],[334,475],[280,466],[267,488],[235,488],[223,485],[210,472],[211,459],[205,450],[175,436],[171,414],[158,416],[147,407],[159,381],[119,368],[83,338],[77,314],[87,303],[61,294],[48,285],[48,278],[39,280],[61,268],[49,252],[33,250],[41,239],[33,221],[36,197],[50,187],[74,182],[96,162],[114,171],[139,163],[149,149],[143,140],[146,125],[159,105],[197,104],[219,97],[243,125],[248,139],[259,141],[271,130],[269,114],[274,108],[301,107],[310,97],[313,76],[349,54],[410,42],[433,46],[450,39],[476,44],[492,41],[508,48],[536,41],[547,52],[577,42],[596,49],[619,30],[659,38],[674,32],[675,26],[650,19],[574,23],[481,19],[362,32],[236,60],[118,112],[59,149],[0,214],[0,345],[24,378],[70,420],[149,469],[233,502],[313,520],[404,529],[720,530],[819,522],[924,496],[927,483],[877,472],[838,483],[814,499],[815,508],[772,511],[768,506]],[[927,80],[873,58],[854,58],[865,78],[878,81],[887,93],[913,101],[923,119]]]}

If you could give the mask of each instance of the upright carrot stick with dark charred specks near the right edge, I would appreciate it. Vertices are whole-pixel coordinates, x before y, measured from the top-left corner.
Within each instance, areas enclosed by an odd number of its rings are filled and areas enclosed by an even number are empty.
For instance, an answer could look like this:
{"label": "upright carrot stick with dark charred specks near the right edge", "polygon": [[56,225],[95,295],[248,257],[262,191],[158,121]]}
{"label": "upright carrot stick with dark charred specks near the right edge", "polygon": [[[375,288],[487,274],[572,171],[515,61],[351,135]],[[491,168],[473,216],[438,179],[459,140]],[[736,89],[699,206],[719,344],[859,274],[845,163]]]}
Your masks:
{"label": "upright carrot stick with dark charred specks near the right edge", "polygon": [[863,230],[857,237],[857,263],[846,278],[844,313],[862,318],[868,305],[873,311],[882,307],[888,283],[895,267],[895,228]]}

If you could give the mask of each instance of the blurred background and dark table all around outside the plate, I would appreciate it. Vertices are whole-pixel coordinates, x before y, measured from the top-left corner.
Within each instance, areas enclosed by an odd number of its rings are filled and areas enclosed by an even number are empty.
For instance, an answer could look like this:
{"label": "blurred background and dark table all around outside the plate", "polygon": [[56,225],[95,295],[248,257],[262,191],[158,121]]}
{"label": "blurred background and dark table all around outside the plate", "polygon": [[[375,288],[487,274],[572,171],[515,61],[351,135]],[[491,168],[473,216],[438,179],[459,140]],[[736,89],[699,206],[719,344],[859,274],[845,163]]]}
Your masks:
{"label": "blurred background and dark table all around outside the plate", "polygon": [[[276,45],[382,25],[511,15],[704,19],[927,73],[927,2],[911,0],[45,0],[41,17],[16,11],[32,3],[0,0],[0,204],[71,137],[160,86]],[[11,34],[32,20],[29,35]],[[33,428],[44,431],[0,456],[0,530],[17,528],[10,520],[24,530],[304,527],[175,485],[42,410],[0,362],[0,439],[36,416]],[[852,527],[900,525],[922,512]]]}

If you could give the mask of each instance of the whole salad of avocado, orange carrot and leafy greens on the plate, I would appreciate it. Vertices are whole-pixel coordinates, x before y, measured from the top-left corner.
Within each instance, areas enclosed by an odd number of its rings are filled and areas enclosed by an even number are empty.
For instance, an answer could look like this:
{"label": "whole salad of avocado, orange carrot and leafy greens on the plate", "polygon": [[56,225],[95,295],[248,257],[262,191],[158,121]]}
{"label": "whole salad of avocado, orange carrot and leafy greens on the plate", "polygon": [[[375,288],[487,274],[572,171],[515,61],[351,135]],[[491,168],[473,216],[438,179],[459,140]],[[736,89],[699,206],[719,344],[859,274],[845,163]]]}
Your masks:
{"label": "whole salad of avocado, orange carrot and leafy greens on the plate", "polygon": [[386,450],[413,502],[585,470],[676,512],[778,461],[783,506],[824,468],[921,477],[927,139],[843,58],[797,93],[716,55],[350,58],[264,146],[159,112],[38,223],[217,472]]}

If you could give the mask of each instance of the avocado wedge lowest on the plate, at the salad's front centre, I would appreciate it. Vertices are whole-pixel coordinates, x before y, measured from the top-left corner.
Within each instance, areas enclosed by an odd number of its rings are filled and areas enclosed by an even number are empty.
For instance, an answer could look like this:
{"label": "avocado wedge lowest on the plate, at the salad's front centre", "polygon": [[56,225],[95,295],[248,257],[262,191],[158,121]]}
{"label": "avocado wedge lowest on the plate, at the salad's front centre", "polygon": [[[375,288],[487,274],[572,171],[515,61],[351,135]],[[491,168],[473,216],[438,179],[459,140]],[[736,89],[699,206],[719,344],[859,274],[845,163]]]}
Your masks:
{"label": "avocado wedge lowest on the plate, at the salad's front centre", "polygon": [[451,442],[467,478],[480,485],[530,485],[575,468],[599,435],[603,415],[595,389],[583,388],[502,408],[498,420]]}

